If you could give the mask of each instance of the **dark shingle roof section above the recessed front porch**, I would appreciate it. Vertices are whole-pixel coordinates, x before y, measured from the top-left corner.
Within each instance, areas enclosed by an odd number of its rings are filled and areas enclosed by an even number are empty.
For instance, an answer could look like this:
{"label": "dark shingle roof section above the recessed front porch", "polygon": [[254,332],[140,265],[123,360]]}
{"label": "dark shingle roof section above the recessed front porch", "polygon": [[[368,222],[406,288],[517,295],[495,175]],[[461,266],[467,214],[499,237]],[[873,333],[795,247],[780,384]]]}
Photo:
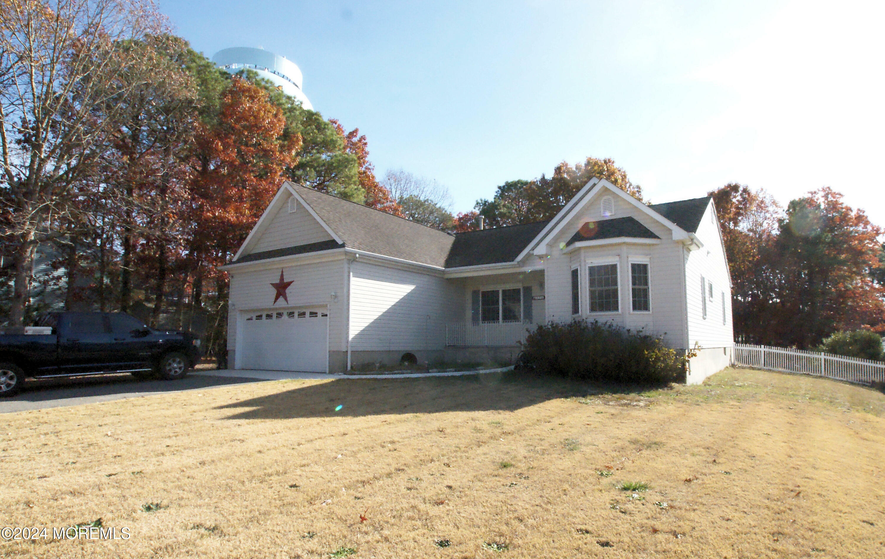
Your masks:
{"label": "dark shingle roof section above the recessed front porch", "polygon": [[513,262],[549,221],[455,234],[446,268]]}

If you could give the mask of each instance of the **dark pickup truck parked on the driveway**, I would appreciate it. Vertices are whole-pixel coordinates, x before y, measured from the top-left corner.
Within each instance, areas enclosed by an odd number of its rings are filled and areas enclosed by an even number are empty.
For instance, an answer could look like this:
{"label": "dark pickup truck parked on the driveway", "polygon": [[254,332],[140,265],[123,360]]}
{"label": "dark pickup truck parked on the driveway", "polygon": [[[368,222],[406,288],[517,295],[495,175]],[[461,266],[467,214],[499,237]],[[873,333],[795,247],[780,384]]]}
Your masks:
{"label": "dark pickup truck parked on the driveway", "polygon": [[129,372],[183,379],[199,359],[193,333],[153,330],[120,312],[50,313],[35,327],[0,333],[0,397],[18,392],[26,378]]}

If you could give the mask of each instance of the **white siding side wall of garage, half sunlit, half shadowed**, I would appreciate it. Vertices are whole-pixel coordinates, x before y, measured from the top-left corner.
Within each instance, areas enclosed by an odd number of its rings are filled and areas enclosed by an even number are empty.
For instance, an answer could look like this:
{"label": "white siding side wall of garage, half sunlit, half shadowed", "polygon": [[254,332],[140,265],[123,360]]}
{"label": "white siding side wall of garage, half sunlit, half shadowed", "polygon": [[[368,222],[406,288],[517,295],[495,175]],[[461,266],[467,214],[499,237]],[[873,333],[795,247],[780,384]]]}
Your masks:
{"label": "white siding side wall of garage, half sunlit, half shadowed", "polygon": [[453,286],[441,276],[350,264],[350,350],[442,349]]}

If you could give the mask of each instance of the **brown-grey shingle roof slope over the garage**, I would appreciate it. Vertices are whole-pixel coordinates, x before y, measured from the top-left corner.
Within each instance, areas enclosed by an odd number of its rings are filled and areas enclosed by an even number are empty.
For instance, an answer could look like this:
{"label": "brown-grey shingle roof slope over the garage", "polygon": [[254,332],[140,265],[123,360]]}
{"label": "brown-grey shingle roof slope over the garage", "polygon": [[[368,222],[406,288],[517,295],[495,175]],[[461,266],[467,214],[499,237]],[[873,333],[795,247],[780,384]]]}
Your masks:
{"label": "brown-grey shingle roof slope over the garage", "polygon": [[442,268],[455,237],[361,203],[288,183],[348,249]]}

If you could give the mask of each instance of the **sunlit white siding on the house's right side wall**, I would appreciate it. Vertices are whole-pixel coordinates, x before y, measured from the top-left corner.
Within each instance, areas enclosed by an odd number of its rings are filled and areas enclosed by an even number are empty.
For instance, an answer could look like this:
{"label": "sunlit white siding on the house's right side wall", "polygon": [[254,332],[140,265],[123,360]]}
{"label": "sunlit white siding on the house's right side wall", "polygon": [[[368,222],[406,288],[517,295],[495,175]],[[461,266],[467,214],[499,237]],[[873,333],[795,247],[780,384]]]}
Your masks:
{"label": "sunlit white siding on the house's right side wall", "polygon": [[[728,267],[722,251],[719,226],[713,220],[713,206],[707,207],[697,237],[704,248],[689,254],[686,263],[686,294],[688,296],[689,347],[695,342],[702,348],[722,348],[734,343],[731,320],[731,288],[728,285]],[[701,278],[712,282],[713,296],[705,287],[707,317],[704,318],[704,302],[701,299]],[[722,324],[722,293],[725,293],[726,313]]]}

